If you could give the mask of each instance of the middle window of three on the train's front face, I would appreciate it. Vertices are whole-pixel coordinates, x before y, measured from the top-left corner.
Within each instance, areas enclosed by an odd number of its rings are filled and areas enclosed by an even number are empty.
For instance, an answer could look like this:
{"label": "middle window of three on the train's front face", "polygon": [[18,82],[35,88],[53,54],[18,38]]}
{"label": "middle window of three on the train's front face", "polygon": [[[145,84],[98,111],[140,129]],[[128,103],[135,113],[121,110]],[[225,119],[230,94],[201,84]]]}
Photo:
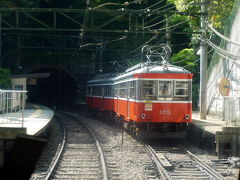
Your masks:
{"label": "middle window of three on the train's front face", "polygon": [[159,98],[172,97],[172,81],[159,81]]}

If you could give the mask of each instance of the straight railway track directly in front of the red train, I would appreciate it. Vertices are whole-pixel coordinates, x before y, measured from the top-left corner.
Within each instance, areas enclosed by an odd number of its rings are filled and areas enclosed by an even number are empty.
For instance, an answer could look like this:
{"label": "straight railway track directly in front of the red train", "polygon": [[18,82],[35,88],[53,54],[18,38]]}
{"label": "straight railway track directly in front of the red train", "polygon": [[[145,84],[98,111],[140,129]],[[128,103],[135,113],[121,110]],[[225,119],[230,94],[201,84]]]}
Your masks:
{"label": "straight railway track directly in front of the red train", "polygon": [[222,176],[181,146],[146,145],[162,179],[216,179]]}

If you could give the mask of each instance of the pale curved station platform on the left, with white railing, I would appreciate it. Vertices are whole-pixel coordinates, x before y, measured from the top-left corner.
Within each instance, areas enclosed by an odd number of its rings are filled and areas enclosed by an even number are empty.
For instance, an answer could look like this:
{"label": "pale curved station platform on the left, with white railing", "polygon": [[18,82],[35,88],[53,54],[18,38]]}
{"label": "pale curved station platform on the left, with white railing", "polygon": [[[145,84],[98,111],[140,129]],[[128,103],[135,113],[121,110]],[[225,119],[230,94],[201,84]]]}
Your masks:
{"label": "pale curved station platform on the left, with white railing", "polygon": [[13,139],[17,134],[38,136],[52,120],[54,111],[43,105],[27,104],[24,111],[0,115],[0,138]]}

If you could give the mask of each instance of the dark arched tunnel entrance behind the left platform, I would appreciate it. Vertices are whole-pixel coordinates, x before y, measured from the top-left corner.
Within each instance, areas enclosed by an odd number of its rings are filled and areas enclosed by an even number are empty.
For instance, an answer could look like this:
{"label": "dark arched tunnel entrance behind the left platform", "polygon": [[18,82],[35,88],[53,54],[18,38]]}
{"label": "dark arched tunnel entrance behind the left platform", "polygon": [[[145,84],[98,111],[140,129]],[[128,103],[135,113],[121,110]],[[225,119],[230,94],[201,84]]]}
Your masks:
{"label": "dark arched tunnel entrance behind the left platform", "polygon": [[47,105],[51,108],[66,108],[74,103],[77,83],[68,73],[58,69],[40,69],[32,73],[50,73],[47,78],[38,78],[35,84],[28,83],[28,102]]}

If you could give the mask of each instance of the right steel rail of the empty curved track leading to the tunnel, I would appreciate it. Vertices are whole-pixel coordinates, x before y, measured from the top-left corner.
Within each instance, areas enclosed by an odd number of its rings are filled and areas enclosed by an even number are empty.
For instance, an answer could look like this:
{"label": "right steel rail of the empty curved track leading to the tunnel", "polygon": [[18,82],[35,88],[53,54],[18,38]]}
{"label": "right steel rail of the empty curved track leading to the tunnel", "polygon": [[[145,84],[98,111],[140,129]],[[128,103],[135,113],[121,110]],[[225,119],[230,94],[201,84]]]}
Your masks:
{"label": "right steel rail of the empty curved track leading to the tunnel", "polygon": [[[62,112],[62,111],[57,111],[59,113],[62,113],[66,116],[69,116],[71,117],[72,119],[76,120],[73,116],[71,116],[70,114],[66,113],[66,112]],[[98,149],[98,152],[100,154],[100,160],[101,160],[101,169],[102,169],[102,174],[103,174],[103,180],[108,180],[108,175],[107,175],[107,167],[106,167],[106,163],[105,163],[105,160],[104,160],[104,156],[103,156],[103,151],[102,151],[102,148],[101,148],[101,145],[97,139],[97,137],[95,136],[94,134],[94,131],[92,130],[92,128],[90,126],[88,126],[86,123],[84,123],[83,121],[81,120],[77,120],[78,122],[80,122],[88,131],[89,133],[91,134],[91,136],[93,137],[93,139],[95,140],[95,144],[97,146],[97,149]]]}

